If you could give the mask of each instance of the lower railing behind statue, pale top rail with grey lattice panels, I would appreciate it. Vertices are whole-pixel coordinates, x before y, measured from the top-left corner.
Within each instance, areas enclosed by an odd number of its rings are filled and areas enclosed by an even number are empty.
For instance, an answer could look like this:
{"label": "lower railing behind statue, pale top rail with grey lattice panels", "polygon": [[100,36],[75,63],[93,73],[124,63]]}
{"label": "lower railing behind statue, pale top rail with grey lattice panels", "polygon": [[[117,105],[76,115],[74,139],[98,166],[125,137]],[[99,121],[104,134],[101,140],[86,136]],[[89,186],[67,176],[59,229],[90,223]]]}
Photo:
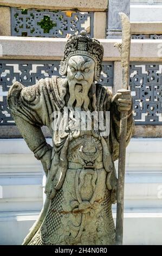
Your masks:
{"label": "lower railing behind statue, pale top rail with grey lattice panels", "polygon": [[[1,134],[13,133],[13,121],[7,107],[7,93],[13,82],[24,86],[38,79],[59,74],[59,63],[67,39],[0,37]],[[103,72],[99,81],[116,93],[121,88],[121,63],[114,43],[120,40],[100,40],[104,48]],[[161,40],[132,40],[130,89],[132,90],[135,137],[162,137],[162,42]],[[147,129],[146,129],[147,127]],[[16,129],[16,128],[15,128]],[[10,132],[9,132],[10,130]],[[18,133],[15,133],[17,137]]]}

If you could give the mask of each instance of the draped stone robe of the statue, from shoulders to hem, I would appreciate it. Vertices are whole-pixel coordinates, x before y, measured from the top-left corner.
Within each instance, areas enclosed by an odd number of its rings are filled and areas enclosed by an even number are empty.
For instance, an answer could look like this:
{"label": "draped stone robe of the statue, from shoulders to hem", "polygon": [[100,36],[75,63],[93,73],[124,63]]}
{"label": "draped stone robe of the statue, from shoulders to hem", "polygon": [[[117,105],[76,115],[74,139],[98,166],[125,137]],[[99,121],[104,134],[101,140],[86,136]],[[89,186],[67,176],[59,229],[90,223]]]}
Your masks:
{"label": "draped stone robe of the statue, from shoulders to hem", "polygon": [[[69,99],[64,78],[41,79],[30,87],[16,82],[10,88],[8,105],[28,147],[37,159],[52,150],[46,184],[50,203],[43,221],[30,232],[28,245],[114,243],[111,206],[116,200],[114,161],[119,155],[120,113],[112,103],[112,96],[108,88],[96,84],[96,110],[111,112],[109,136],[102,137],[93,129],[53,130],[53,112],[63,111]],[[90,108],[90,93],[89,98]],[[133,129],[132,109],[128,112],[127,124],[128,144]],[[51,132],[52,149],[41,131],[43,125]]]}

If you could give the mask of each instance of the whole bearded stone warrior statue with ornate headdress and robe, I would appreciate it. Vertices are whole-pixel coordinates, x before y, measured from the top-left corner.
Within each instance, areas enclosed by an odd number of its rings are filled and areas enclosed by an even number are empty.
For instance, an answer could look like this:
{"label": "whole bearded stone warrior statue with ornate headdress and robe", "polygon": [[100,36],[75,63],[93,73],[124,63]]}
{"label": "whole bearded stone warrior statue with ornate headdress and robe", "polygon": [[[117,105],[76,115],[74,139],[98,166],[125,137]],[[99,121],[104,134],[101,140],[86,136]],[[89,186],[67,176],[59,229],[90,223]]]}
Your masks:
{"label": "whole bearded stone warrior statue with ornate headdress and robe", "polygon": [[[132,136],[132,98],[129,90],[116,93],[96,83],[102,69],[103,47],[85,31],[68,39],[60,75],[34,86],[14,83],[8,105],[28,147],[41,160],[47,175],[47,199],[25,245],[112,245],[116,203],[114,161],[119,154],[120,112],[128,111],[127,144]],[[68,108],[66,129],[53,129],[54,112]],[[74,111],[110,111],[110,131],[81,130]],[[58,119],[58,118],[57,118]],[[59,119],[62,122],[63,118]],[[58,123],[58,122],[57,122]],[[53,147],[41,126],[48,126]],[[59,126],[58,126],[59,127]],[[75,129],[72,129],[72,127]]]}

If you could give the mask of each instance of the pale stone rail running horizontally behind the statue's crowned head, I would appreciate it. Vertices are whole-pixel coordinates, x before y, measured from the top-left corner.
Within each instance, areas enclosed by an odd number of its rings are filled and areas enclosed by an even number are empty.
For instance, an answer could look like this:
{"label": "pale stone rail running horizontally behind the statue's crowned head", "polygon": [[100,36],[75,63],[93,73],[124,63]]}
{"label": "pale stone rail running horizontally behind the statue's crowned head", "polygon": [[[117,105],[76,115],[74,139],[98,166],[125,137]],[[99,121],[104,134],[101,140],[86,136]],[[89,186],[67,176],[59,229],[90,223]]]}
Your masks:
{"label": "pale stone rail running horizontally behind the statue's crowned head", "polygon": [[[115,42],[120,39],[99,39],[104,48],[103,60],[120,61]],[[21,36],[0,36],[1,59],[60,60],[63,56],[65,38],[24,38]],[[131,62],[161,62],[162,40],[131,41]]]}

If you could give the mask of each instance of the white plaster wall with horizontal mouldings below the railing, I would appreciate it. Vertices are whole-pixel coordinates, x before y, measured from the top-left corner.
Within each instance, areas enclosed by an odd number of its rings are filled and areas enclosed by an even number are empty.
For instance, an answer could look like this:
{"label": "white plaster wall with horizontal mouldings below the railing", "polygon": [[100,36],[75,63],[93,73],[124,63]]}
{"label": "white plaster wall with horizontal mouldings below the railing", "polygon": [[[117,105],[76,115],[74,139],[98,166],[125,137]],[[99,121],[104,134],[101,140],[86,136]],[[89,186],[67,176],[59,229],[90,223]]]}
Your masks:
{"label": "white plaster wall with horizontal mouldings below the railing", "polygon": [[[161,155],[161,138],[133,138],[127,148],[127,245],[162,245]],[[42,208],[42,167],[23,139],[0,139],[0,163],[0,244],[20,245]]]}

